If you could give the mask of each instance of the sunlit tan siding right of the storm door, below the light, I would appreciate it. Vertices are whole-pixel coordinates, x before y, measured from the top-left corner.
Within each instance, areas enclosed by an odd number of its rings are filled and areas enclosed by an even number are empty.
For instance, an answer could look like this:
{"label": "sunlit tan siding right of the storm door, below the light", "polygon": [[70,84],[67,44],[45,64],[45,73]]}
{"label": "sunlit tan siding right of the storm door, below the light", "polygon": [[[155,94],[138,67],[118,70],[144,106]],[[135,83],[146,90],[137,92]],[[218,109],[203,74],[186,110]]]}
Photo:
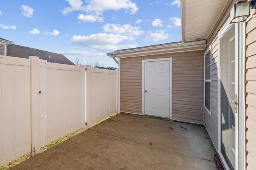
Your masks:
{"label": "sunlit tan siding right of the storm door, below the light", "polygon": [[256,169],[256,22],[246,21],[246,168]]}

